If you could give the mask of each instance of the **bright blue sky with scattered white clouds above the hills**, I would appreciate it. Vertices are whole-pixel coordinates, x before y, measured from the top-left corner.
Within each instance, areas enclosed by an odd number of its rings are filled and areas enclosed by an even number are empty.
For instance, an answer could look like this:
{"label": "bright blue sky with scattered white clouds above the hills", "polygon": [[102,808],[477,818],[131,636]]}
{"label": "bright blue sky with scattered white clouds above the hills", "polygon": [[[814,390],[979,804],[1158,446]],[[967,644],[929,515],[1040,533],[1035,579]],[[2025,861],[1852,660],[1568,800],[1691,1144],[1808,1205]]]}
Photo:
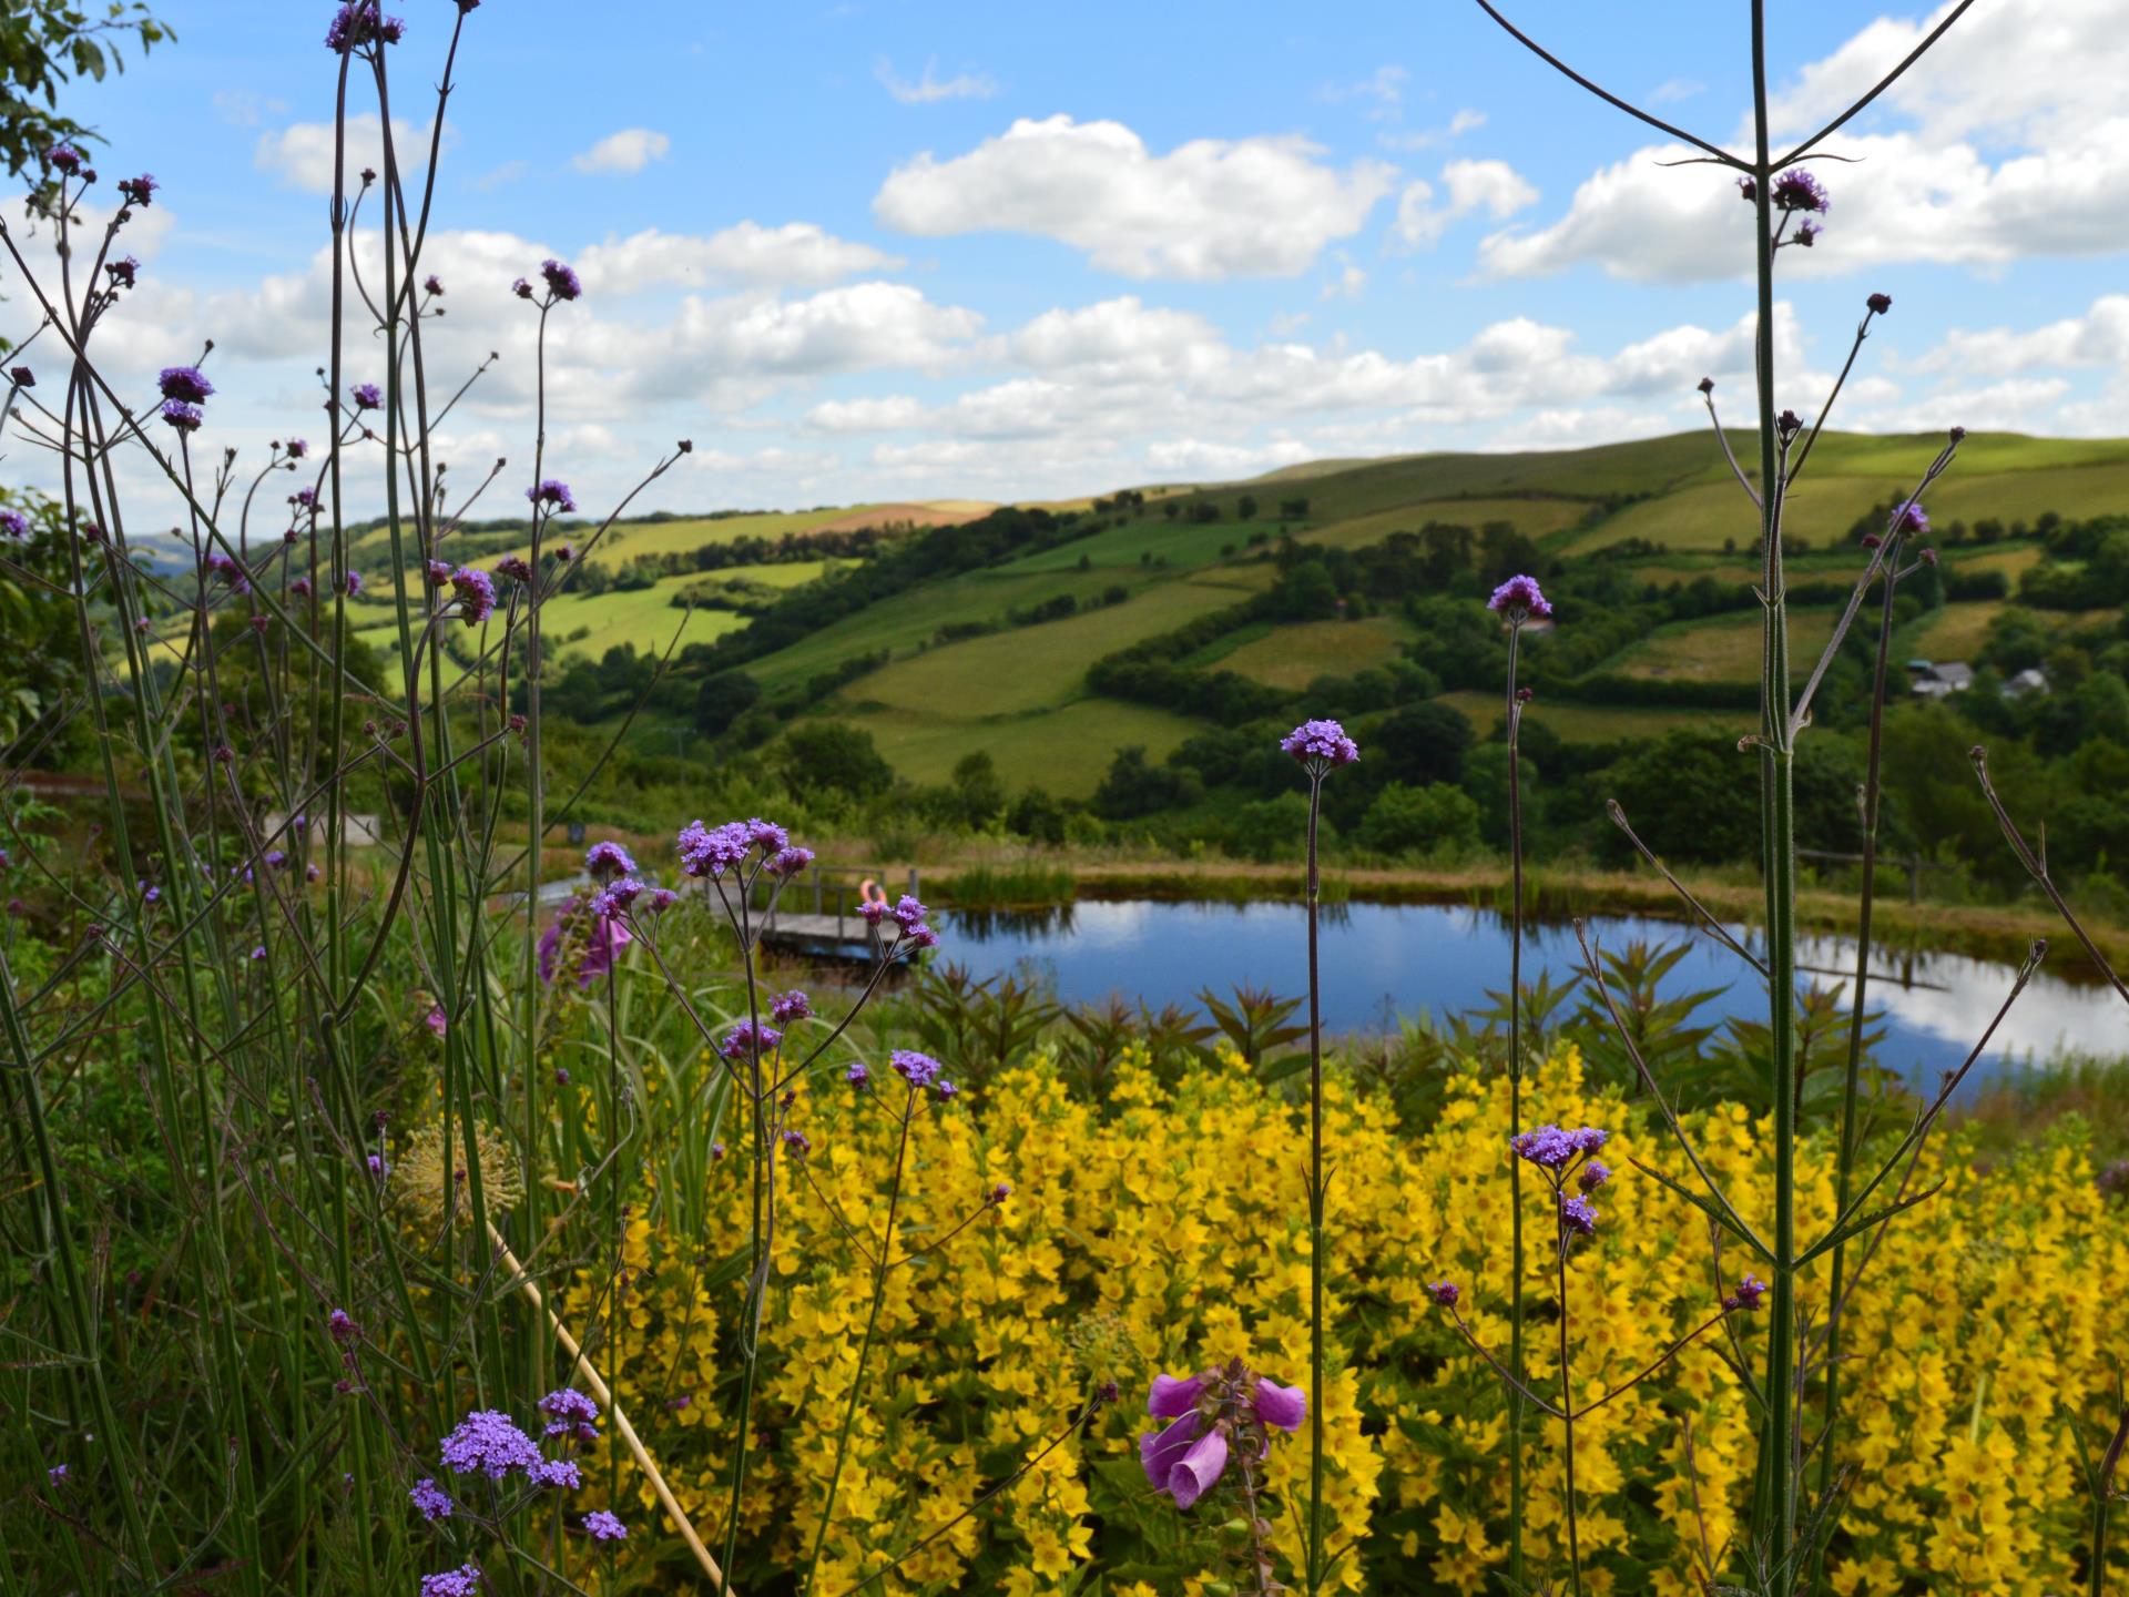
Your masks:
{"label": "bright blue sky with scattered white clouds above the hills", "polygon": [[[1850,426],[2129,434],[2110,9],[1982,0],[1842,136],[1863,160],[1818,168],[1827,234],[1782,258],[1784,402],[1818,400],[1884,290]],[[332,6],[158,11],[177,45],[70,106],[106,177],[164,185],[104,358],[143,381],[213,336],[215,443],[253,451],[317,413]],[[392,109],[417,134],[453,6],[394,11]],[[1742,6],[1512,15],[1661,115],[1744,132]],[[1782,6],[1780,119],[1816,126],[1931,15]],[[445,428],[460,475],[530,462],[509,281],[547,253],[588,290],[556,317],[549,449],[594,500],[677,437],[696,456],[647,505],[1595,443],[1693,426],[1703,373],[1746,409],[1750,215],[1727,179],[1661,168],[1661,134],[1450,0],[488,0],[445,130],[432,364],[502,353]],[[19,334],[26,296],[0,292]]]}

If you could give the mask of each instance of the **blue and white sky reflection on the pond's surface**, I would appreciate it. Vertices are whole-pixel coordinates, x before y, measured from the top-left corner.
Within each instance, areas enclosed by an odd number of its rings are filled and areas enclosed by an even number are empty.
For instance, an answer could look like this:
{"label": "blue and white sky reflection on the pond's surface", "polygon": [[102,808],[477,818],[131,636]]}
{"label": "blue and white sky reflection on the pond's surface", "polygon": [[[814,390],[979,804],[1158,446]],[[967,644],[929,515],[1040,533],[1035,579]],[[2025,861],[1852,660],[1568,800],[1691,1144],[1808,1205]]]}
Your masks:
{"label": "blue and white sky reflection on the pond's surface", "polygon": [[[1203,986],[1224,992],[1248,982],[1275,992],[1307,988],[1307,922],[1297,903],[1088,903],[1047,918],[947,918],[945,958],[977,975],[1033,967],[1067,1003],[1118,994],[1152,1007],[1194,1003]],[[1705,1018],[1765,1018],[1756,977],[1707,937],[1680,922],[1639,916],[1592,918],[1599,948],[1629,941],[1693,948],[1665,977],[1663,992],[1724,988]],[[1742,928],[1733,928],[1744,937]],[[1854,943],[1805,939],[1805,982],[1846,986]],[[1556,984],[1580,965],[1573,928],[1533,926],[1524,943],[1524,982],[1548,973]],[[1878,1058],[1912,1080],[1957,1069],[2010,992],[2014,967],[1959,954],[1882,950],[1871,967],[1869,1003],[1884,1011]],[[1386,1016],[1454,1014],[1507,988],[1507,922],[1463,905],[1324,905],[1324,1022],[1333,1031],[1382,1026]],[[1997,1028],[1976,1073],[2006,1058],[2046,1060],[2059,1050],[2129,1052],[2129,1014],[2108,988],[2052,977],[2042,967]]]}

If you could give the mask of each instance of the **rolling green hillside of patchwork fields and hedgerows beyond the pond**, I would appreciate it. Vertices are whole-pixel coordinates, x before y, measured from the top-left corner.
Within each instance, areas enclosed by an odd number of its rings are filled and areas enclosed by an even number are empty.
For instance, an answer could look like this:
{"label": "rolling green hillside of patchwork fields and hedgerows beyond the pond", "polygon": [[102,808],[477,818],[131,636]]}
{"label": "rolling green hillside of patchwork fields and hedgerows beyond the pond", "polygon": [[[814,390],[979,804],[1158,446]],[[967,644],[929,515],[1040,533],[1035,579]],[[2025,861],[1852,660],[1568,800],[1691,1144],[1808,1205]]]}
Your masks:
{"label": "rolling green hillside of patchwork fields and hedgerows beyond the pond", "polygon": [[[1820,441],[1788,520],[1801,669],[1831,630],[1837,590],[1861,569],[1856,534],[1910,492],[1940,443],[1935,434]],[[1754,454],[1750,437],[1733,437],[1733,447],[1739,458]],[[945,503],[918,509],[918,526],[981,511]],[[1739,722],[1739,694],[1759,671],[1759,611],[1748,592],[1756,511],[1705,434],[1569,451],[1326,460],[1252,481],[1150,485],[1047,511],[1028,511],[1047,530],[1001,543],[999,558],[945,560],[920,579],[896,577],[869,603],[822,611],[820,624],[769,632],[749,628],[752,618],[737,609],[696,609],[683,643],[715,645],[694,662],[698,675],[739,669],[786,718],[832,715],[862,726],[918,781],[941,781],[962,756],[984,750],[1007,786],[1043,786],[1058,796],[1092,792],[1118,747],[1139,743],[1158,760],[1211,724],[1182,703],[1096,696],[1088,686],[1096,660],[1165,647],[1169,635],[1201,624],[1211,632],[1192,632],[1171,664],[1233,673],[1292,698],[1318,679],[1407,658],[1426,641],[1407,600],[1424,594],[1384,598],[1365,592],[1363,577],[1320,615],[1241,607],[1314,551],[1341,571],[1367,571],[1392,534],[1420,534],[1431,524],[1467,528],[1467,547],[1507,539],[1503,547],[1554,573],[1603,569],[1648,592],[1701,583],[1724,594],[1682,620],[1618,639],[1601,658],[1580,660],[1578,679],[1599,686],[1541,707],[1558,737],[1618,741],[1680,724],[1729,726]],[[2129,441],[1969,434],[1950,475],[1931,490],[1929,511],[1942,573],[1959,592],[1916,615],[1899,645],[1905,654],[1967,658],[1986,641],[1991,622],[2016,607],[2020,575],[2050,558],[2031,537],[2035,530],[2054,517],[2129,513]],[[739,537],[807,537],[856,526],[864,513],[622,524],[600,556],[626,562],[641,554],[686,556]],[[911,528],[881,547],[924,537],[933,534]],[[1277,554],[1286,539],[1299,556]],[[1405,547],[1416,541],[1405,539]],[[807,583],[847,583],[881,558],[875,549],[864,560],[790,560],[705,575],[758,583],[747,609],[760,611],[777,590],[807,594]],[[1984,573],[1997,577],[1982,581]],[[562,596],[547,613],[547,632],[562,641],[564,662],[596,662],[622,643],[662,652],[681,624],[673,598],[696,581],[703,575],[669,575],[649,588]],[[1995,581],[2003,588],[1984,592]],[[2101,598],[2120,605],[2129,594]],[[1205,620],[1222,615],[1233,624]],[[2106,611],[2054,615],[2065,626],[2089,626]],[[1573,628],[1580,620],[1563,613],[1561,624]],[[373,637],[390,641],[385,632]],[[790,641],[777,647],[781,639]],[[1467,713],[1480,735],[1499,713],[1490,694],[1471,684],[1450,681],[1439,698]]]}

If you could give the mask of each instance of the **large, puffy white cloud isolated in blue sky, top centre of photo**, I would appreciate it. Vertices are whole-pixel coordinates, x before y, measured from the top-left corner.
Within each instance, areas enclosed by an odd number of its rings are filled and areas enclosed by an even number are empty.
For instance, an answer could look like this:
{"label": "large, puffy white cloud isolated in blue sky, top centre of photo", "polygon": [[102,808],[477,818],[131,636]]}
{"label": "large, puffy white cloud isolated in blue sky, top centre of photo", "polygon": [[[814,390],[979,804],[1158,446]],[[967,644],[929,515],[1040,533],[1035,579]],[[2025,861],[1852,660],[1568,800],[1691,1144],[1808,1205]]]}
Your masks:
{"label": "large, puffy white cloud isolated in blue sky, top centre of photo", "polygon": [[928,238],[1026,232],[1122,277],[1297,277],[1358,232],[1394,172],[1346,172],[1301,138],[1196,138],[1167,155],[1120,121],[1022,119],[967,155],[922,153],[873,213]]}

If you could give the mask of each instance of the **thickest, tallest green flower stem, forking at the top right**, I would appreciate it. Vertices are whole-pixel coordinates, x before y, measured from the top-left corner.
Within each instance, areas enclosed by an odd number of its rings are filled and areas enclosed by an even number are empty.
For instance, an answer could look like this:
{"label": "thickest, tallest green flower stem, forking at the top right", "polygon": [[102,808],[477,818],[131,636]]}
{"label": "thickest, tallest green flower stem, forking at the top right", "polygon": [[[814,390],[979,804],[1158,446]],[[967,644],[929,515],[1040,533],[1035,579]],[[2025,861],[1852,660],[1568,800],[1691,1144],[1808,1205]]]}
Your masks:
{"label": "thickest, tallest green flower stem, forking at the top right", "polygon": [[[1773,1261],[1767,1314],[1765,1437],[1759,1461],[1759,1544],[1776,1569],[1790,1567],[1797,1522],[1795,1333],[1797,1333],[1797,837],[1795,735],[1788,724],[1788,598],[1782,573],[1782,471],[1773,417],[1773,158],[1767,115],[1767,0],[1752,0],[1752,211],[1759,287],[1759,481],[1765,607],[1761,679],[1761,775],[1767,858],[1767,1028],[1773,1054]],[[1784,1582],[1793,1576],[1784,1576]]]}

